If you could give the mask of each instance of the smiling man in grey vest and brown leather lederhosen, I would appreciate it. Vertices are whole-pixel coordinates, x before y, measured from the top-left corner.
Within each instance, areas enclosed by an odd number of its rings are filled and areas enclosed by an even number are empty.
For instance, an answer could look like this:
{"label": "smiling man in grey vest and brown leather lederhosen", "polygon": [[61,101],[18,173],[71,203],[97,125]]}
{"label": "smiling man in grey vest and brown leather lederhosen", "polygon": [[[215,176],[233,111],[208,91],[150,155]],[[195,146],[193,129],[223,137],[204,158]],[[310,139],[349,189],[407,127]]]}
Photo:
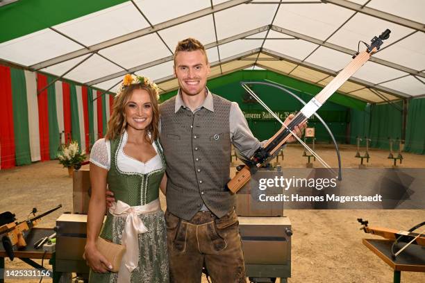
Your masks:
{"label": "smiling man in grey vest and brown leather lederhosen", "polygon": [[[253,137],[238,103],[206,88],[210,65],[198,40],[178,42],[174,74],[178,94],[160,105],[170,280],[201,282],[205,266],[213,282],[246,282],[235,195],[226,183],[231,144],[248,158],[260,141]],[[299,136],[300,128],[295,129]]]}

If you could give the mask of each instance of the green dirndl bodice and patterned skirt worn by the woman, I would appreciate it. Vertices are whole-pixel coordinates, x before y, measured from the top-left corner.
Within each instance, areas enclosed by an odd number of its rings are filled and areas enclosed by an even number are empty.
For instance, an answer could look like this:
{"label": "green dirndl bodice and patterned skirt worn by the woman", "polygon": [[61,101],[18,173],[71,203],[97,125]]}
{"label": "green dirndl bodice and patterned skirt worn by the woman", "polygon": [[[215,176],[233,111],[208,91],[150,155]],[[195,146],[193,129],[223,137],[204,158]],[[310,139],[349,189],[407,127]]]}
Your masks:
{"label": "green dirndl bodice and patterned skirt worn by the woman", "polygon": [[[154,141],[163,164],[161,169],[147,174],[123,172],[117,166],[117,155],[124,147],[123,136],[110,141],[110,169],[108,171],[108,189],[114,192],[116,200],[131,206],[146,205],[159,197],[159,185],[165,173],[165,157],[159,141]],[[167,231],[162,210],[151,214],[140,214],[148,232],[139,234],[138,267],[131,273],[131,283],[165,283],[169,282],[167,253]],[[100,237],[122,243],[125,217],[115,217],[108,212]],[[94,273],[90,271],[89,282],[117,282],[118,273]]]}

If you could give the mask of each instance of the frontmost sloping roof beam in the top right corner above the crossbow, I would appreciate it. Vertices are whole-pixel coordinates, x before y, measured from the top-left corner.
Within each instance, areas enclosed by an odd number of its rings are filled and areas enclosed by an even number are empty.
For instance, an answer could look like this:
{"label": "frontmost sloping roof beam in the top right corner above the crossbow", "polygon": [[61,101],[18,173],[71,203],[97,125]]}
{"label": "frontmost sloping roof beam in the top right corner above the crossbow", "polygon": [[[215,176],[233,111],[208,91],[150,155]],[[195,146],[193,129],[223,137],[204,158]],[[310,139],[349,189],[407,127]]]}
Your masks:
{"label": "frontmost sloping roof beam in the top right corner above the crossbow", "polygon": [[359,5],[358,3],[353,3],[351,1],[347,0],[326,0],[325,3],[332,3],[334,5],[344,7],[353,11],[361,12],[363,14],[377,17],[379,19],[383,19],[388,22],[392,22],[394,24],[399,24],[401,26],[406,26],[407,28],[412,28],[416,31],[422,31],[425,32],[425,26],[424,24],[411,21],[410,19],[405,19],[403,17],[398,17],[396,15],[392,15],[387,12],[383,12],[380,10],[375,10],[369,7],[363,7],[362,5]]}

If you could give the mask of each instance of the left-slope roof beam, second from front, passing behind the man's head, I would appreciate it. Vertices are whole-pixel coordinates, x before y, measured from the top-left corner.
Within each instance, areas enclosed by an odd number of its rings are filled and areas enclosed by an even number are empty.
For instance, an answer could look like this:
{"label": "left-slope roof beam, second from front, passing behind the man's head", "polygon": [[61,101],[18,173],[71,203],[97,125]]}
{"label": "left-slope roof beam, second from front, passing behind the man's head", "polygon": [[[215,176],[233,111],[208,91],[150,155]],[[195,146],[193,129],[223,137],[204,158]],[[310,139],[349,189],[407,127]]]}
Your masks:
{"label": "left-slope roof beam, second from front, passing behind the man's head", "polygon": [[[260,28],[255,28],[255,29],[253,29],[251,31],[246,31],[246,32],[240,33],[238,35],[233,35],[231,37],[224,38],[223,40],[219,40],[217,42],[212,42],[212,43],[206,44],[204,47],[205,47],[205,49],[210,49],[210,48],[213,48],[213,47],[222,45],[222,44],[226,44],[228,42],[233,42],[235,40],[240,40],[240,39],[242,39],[244,37],[247,37],[249,35],[255,35],[256,33],[261,33],[263,31],[267,31],[268,28],[269,28],[269,25],[262,26]],[[142,65],[133,67],[131,69],[128,69],[128,71],[119,71],[119,72],[117,72],[115,74],[110,74],[110,75],[104,76],[102,78],[97,78],[96,80],[91,80],[90,82],[87,82],[85,84],[86,85],[97,85],[98,83],[103,83],[106,80],[111,80],[113,78],[118,78],[120,76],[124,76],[127,73],[134,73],[135,71],[140,71],[142,69],[147,69],[149,67],[153,67],[155,65],[160,65],[162,63],[169,62],[169,61],[172,61],[172,60],[174,60],[174,56],[173,55],[170,55],[170,56],[167,56],[165,58],[161,58],[161,59],[158,59],[158,60],[155,60],[155,61],[152,61],[152,62],[148,62],[146,64],[142,64]]]}

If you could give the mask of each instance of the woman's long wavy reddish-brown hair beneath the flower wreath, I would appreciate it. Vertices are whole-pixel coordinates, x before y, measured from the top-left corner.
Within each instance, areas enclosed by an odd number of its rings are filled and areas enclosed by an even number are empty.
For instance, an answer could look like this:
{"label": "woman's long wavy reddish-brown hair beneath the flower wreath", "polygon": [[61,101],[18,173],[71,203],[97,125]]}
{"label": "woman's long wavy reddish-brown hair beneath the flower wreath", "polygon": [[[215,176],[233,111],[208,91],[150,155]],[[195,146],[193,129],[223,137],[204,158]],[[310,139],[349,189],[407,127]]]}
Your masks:
{"label": "woman's long wavy reddish-brown hair beneath the flower wreath", "polygon": [[[127,126],[126,121],[126,105],[128,100],[130,100],[131,95],[133,94],[133,90],[135,89],[145,89],[149,93],[149,98],[151,98],[152,105],[152,121],[147,126],[144,131],[144,139],[146,139],[149,143],[156,140],[159,135],[158,123],[159,123],[159,108],[158,108],[158,99],[156,98],[156,91],[147,85],[142,83],[135,83],[128,85],[122,92],[115,96],[112,114],[108,121],[108,130],[105,135],[105,139],[115,139],[122,135]],[[149,138],[149,133],[151,137]]]}

